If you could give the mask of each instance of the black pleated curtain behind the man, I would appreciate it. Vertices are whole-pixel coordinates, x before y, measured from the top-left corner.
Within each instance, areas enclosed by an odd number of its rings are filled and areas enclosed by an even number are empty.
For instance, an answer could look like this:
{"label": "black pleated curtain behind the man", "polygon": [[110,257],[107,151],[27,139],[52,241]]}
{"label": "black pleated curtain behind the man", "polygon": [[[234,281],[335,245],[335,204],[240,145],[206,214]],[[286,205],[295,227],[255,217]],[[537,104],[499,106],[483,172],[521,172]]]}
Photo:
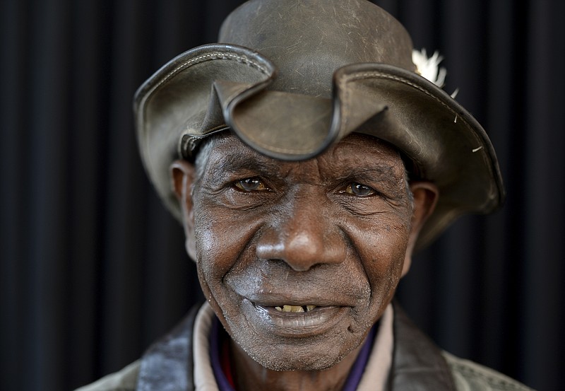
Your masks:
{"label": "black pleated curtain behind the man", "polygon": [[[540,390],[565,368],[565,2],[383,0],[483,124],[508,199],[418,255],[398,297],[454,354]],[[0,388],[71,390],[201,296],[153,193],[136,88],[237,0],[0,1]],[[559,383],[558,383],[559,382]]]}

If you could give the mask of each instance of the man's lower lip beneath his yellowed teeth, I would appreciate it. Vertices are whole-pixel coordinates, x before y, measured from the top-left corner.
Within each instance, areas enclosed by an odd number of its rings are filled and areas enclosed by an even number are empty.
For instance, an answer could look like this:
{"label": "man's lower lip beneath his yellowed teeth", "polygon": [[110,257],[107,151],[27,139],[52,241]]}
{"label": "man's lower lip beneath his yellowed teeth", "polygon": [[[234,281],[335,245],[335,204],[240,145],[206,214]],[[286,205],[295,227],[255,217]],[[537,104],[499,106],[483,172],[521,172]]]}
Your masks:
{"label": "man's lower lip beneath his yellowed teeth", "polygon": [[244,299],[244,313],[258,328],[280,337],[305,338],[333,329],[345,318],[348,307],[316,307],[304,313],[287,313],[274,307],[263,307]]}

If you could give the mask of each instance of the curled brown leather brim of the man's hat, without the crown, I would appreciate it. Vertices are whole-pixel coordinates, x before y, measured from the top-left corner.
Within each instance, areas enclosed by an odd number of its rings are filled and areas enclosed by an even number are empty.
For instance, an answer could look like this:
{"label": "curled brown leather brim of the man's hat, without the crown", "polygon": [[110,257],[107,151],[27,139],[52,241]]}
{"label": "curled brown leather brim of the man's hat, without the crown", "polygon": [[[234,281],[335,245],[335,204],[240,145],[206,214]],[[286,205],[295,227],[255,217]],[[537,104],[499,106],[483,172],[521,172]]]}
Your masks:
{"label": "curled brown leather brim of the man's hat, without the crown", "polygon": [[[343,66],[333,97],[270,91],[276,67],[237,45],[204,45],[181,54],[136,93],[134,109],[145,168],[174,216],[179,205],[169,165],[183,136],[230,127],[251,148],[297,161],[351,132],[383,139],[439,187],[439,202],[417,241],[421,249],[458,216],[486,214],[504,199],[494,148],[480,124],[441,88],[388,64]],[[266,130],[268,129],[268,131]]]}

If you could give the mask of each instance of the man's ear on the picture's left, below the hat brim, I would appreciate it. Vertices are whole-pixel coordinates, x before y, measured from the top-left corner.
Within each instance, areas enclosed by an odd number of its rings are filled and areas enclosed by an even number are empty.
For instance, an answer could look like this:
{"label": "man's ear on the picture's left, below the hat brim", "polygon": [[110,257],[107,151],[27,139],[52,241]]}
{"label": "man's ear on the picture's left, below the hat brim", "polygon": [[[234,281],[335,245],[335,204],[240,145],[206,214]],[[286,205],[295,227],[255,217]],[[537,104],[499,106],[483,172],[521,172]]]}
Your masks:
{"label": "man's ear on the picture's left, below the hat brim", "polygon": [[194,239],[194,204],[192,186],[195,179],[194,165],[183,160],[174,161],[170,166],[171,189],[177,195],[182,211],[182,226],[186,236],[185,246],[189,257],[196,260]]}

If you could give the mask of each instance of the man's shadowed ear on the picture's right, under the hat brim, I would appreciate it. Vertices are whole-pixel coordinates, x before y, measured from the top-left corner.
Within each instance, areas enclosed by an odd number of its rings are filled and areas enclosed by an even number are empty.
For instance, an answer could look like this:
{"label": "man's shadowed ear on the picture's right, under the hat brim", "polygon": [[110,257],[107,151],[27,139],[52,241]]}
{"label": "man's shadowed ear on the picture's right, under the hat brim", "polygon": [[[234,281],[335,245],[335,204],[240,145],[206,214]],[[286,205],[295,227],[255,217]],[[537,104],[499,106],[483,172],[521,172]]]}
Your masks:
{"label": "man's shadowed ear on the picture's right, under the hat brim", "polygon": [[414,252],[418,235],[420,235],[420,230],[429,215],[434,211],[439,197],[439,190],[432,182],[410,182],[410,191],[414,197],[414,211],[412,212],[412,229],[410,230],[410,237],[408,238],[408,247],[406,249],[402,276],[405,276],[410,269],[412,253]]}

